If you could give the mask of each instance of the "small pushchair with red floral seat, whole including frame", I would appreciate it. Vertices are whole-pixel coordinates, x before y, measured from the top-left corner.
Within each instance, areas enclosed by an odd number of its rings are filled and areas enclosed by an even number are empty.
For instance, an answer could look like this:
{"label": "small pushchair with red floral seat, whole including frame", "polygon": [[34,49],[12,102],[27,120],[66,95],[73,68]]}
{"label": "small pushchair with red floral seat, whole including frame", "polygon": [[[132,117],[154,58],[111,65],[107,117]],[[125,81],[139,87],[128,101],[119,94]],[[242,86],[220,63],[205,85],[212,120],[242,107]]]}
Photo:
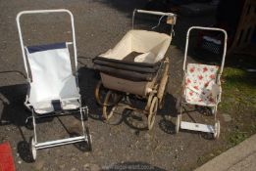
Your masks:
{"label": "small pushchair with red floral seat, whole including frame", "polygon": [[[222,31],[224,37],[224,51],[221,67],[219,65],[209,64],[187,64],[187,50],[189,43],[189,33],[192,29],[203,29],[212,31]],[[215,139],[220,136],[220,121],[217,119],[217,107],[221,102],[222,87],[221,87],[221,75],[223,72],[226,52],[227,52],[227,39],[228,35],[224,29],[215,27],[201,27],[192,26],[188,29],[186,34],[186,44],[184,51],[183,61],[183,81],[181,97],[178,100],[177,106],[180,113],[178,114],[176,121],[176,132],[179,129],[186,129],[192,131],[200,131],[205,133],[211,133]],[[186,122],[181,120],[182,110],[184,105],[193,105],[199,107],[208,107],[208,111],[214,115],[215,124],[202,124],[194,122]]]}

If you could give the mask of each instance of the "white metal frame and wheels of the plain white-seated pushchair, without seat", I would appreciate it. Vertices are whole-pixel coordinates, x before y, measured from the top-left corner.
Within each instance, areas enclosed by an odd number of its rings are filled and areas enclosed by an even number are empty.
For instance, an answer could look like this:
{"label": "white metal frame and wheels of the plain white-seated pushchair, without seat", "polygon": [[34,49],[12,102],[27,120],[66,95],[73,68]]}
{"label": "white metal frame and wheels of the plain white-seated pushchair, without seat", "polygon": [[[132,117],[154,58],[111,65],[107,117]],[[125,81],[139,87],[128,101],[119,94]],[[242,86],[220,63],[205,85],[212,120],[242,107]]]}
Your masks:
{"label": "white metal frame and wheels of the plain white-seated pushchair, without seat", "polygon": [[[21,43],[21,48],[22,48],[22,54],[23,54],[23,59],[24,59],[24,64],[25,64],[25,69],[26,69],[26,79],[29,84],[32,82],[31,80],[31,75],[28,72],[28,67],[27,67],[27,59],[26,59],[26,51],[25,51],[25,45],[24,45],[24,40],[23,40],[23,34],[22,34],[22,29],[21,29],[21,24],[20,24],[20,18],[24,15],[32,15],[32,14],[49,14],[49,13],[68,13],[71,19],[71,26],[72,26],[72,37],[73,41],[72,42],[67,42],[67,45],[73,45],[74,49],[74,58],[75,58],[75,68],[76,68],[76,81],[77,79],[77,45],[76,45],[76,35],[75,35],[75,24],[74,24],[74,16],[73,14],[66,9],[58,9],[58,10],[33,10],[33,11],[23,11],[20,12],[17,15],[16,21],[18,25],[18,32],[19,32],[19,37],[20,37],[20,43]],[[78,86],[78,82],[77,82]],[[78,87],[77,87],[78,89]],[[29,91],[29,87],[28,87]],[[73,99],[68,99],[68,100],[73,100]],[[46,149],[46,148],[52,148],[52,147],[57,147],[57,146],[63,146],[63,145],[68,145],[68,144],[74,144],[78,142],[86,142],[88,145],[88,149],[91,150],[91,137],[89,134],[89,129],[86,126],[84,127],[84,119],[87,120],[88,118],[88,107],[81,107],[81,99],[80,97],[76,100],[79,103],[79,107],[73,111],[78,111],[80,114],[80,120],[81,120],[81,128],[82,128],[82,135],[77,136],[77,137],[72,137],[72,138],[65,138],[61,140],[55,140],[55,141],[48,141],[48,142],[43,142],[43,143],[38,143],[37,141],[37,134],[36,134],[36,119],[39,118],[44,118],[44,117],[53,117],[53,116],[60,116],[60,115],[68,115],[72,114],[72,111],[64,112],[64,110],[60,111],[53,111],[51,113],[46,113],[46,114],[37,114],[34,110],[34,108],[29,104],[28,102],[28,95],[26,95],[26,102],[25,106],[31,111],[31,116],[27,117],[26,123],[28,122],[29,119],[32,119],[32,126],[33,126],[33,134],[34,136],[30,137],[29,140],[29,145],[30,145],[30,154],[32,156],[32,161],[36,159],[36,151],[41,150],[41,149]]]}

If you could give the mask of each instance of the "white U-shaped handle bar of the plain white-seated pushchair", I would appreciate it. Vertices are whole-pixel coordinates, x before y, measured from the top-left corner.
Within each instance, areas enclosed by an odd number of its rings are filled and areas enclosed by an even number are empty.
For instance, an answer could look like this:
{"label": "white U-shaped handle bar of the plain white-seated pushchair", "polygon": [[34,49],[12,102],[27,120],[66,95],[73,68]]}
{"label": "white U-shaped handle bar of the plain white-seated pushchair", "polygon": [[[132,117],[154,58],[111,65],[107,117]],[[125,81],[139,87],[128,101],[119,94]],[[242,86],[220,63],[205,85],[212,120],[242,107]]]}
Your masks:
{"label": "white U-shaped handle bar of the plain white-seated pushchair", "polygon": [[73,44],[73,46],[74,46],[74,58],[75,58],[75,66],[76,66],[76,70],[77,70],[77,45],[76,45],[74,16],[73,16],[72,12],[69,11],[69,10],[66,10],[66,9],[23,11],[23,12],[20,12],[17,15],[16,21],[17,21],[17,26],[18,26],[18,32],[19,32],[20,43],[21,43],[21,47],[22,47],[22,53],[23,53],[24,64],[25,64],[25,69],[26,69],[26,77],[27,78],[29,78],[29,77],[28,77],[28,69],[27,69],[27,64],[26,64],[25,45],[24,45],[24,40],[23,40],[23,34],[22,34],[22,29],[21,29],[20,18],[23,15],[49,14],[49,13],[68,13],[70,15],[70,17],[71,17],[73,42],[68,42],[68,44]]}

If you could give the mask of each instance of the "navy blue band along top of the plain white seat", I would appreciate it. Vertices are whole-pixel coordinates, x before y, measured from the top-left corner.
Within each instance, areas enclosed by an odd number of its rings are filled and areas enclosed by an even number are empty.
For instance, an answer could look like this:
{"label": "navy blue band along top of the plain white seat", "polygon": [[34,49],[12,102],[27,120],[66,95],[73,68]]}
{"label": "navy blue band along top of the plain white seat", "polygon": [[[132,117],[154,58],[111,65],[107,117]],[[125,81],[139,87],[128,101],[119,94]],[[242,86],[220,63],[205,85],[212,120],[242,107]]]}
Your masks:
{"label": "navy blue band along top of the plain white seat", "polygon": [[38,46],[27,46],[26,49],[29,54],[42,52],[47,50],[54,50],[54,49],[65,49],[67,48],[66,42],[64,43],[54,43],[48,45],[38,45]]}

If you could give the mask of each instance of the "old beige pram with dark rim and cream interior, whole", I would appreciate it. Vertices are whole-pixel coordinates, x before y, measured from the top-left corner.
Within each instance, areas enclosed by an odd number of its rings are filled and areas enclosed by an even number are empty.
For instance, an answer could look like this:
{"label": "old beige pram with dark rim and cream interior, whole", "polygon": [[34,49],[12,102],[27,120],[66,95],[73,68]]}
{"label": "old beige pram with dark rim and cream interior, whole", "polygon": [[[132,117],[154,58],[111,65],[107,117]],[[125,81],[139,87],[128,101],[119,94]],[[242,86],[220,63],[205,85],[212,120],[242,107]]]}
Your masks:
{"label": "old beige pram with dark rim and cream interior, whole", "polygon": [[[170,35],[133,29],[136,12],[168,17],[167,23],[172,25]],[[134,10],[132,29],[113,49],[94,59],[94,68],[100,71],[101,76],[95,88],[95,98],[103,106],[105,120],[109,120],[124,101],[126,108],[138,110],[128,102],[128,95],[134,95],[147,101],[142,112],[147,116],[147,128],[153,127],[157,109],[163,107],[164,103],[169,78],[169,57],[166,52],[172,41],[176,18],[172,13]],[[102,88],[107,89],[103,98]]]}

